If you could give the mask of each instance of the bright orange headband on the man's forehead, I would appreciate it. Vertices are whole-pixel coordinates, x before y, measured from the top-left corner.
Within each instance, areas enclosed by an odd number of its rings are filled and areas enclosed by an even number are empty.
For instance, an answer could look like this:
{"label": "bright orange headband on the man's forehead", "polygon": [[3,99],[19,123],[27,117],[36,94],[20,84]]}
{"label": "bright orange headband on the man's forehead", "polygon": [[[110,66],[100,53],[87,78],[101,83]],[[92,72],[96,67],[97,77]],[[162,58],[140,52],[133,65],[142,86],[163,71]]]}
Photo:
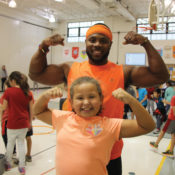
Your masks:
{"label": "bright orange headband on the man's forehead", "polygon": [[92,35],[94,33],[103,34],[103,35],[107,36],[112,41],[112,32],[111,32],[111,30],[109,28],[107,28],[106,26],[104,26],[104,25],[97,24],[97,25],[94,25],[94,26],[90,27],[88,29],[88,31],[86,32],[86,38],[88,38],[90,35]]}

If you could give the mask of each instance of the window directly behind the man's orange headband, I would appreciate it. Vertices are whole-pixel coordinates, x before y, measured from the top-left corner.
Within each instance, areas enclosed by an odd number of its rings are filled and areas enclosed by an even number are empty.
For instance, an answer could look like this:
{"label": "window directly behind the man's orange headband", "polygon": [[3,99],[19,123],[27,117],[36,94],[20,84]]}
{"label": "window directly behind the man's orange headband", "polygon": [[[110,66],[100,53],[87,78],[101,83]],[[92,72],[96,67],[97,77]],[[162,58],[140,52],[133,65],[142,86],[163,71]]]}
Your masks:
{"label": "window directly behind the man's orange headband", "polygon": [[90,26],[96,23],[104,23],[104,21],[87,21],[68,23],[67,41],[68,42],[84,42],[86,32]]}

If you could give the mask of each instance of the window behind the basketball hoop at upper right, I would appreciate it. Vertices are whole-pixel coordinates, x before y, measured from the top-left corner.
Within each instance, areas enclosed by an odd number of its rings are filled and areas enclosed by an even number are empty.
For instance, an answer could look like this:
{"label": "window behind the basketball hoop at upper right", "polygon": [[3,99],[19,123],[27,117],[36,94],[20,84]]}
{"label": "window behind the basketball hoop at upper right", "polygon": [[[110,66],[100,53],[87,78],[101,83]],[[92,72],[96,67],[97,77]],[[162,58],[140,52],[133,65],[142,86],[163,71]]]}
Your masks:
{"label": "window behind the basketball hoop at upper right", "polygon": [[148,37],[150,40],[174,40],[175,17],[159,17],[157,31],[150,28],[148,18],[138,18],[136,29],[137,33]]}

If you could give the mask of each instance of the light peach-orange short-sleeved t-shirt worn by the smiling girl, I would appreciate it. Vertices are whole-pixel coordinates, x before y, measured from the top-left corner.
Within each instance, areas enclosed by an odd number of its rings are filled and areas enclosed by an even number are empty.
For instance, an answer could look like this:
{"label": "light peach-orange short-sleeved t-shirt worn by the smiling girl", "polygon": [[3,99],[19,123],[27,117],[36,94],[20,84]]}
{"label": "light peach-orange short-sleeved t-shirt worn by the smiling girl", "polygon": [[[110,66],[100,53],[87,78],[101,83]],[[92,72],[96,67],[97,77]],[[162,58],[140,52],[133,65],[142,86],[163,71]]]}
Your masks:
{"label": "light peach-orange short-sleeved t-shirt worn by the smiling girl", "polygon": [[56,129],[57,175],[107,175],[106,165],[119,139],[122,119],[79,117],[74,112],[53,110]]}

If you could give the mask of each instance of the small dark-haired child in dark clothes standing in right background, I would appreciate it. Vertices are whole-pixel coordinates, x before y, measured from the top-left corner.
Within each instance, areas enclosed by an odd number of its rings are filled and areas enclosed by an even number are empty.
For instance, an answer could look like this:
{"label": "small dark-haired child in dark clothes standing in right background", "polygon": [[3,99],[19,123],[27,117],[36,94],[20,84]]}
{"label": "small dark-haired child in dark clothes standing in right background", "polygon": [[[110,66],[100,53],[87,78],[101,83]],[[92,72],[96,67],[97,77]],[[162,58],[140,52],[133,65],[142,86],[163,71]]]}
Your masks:
{"label": "small dark-haired child in dark clothes standing in right background", "polygon": [[154,131],[154,134],[158,134],[160,132],[160,127],[163,123],[163,121],[166,119],[166,110],[165,106],[163,104],[163,99],[161,97],[161,89],[157,88],[153,92],[153,100],[155,101],[157,108],[154,111],[154,115],[156,116],[156,131]]}

